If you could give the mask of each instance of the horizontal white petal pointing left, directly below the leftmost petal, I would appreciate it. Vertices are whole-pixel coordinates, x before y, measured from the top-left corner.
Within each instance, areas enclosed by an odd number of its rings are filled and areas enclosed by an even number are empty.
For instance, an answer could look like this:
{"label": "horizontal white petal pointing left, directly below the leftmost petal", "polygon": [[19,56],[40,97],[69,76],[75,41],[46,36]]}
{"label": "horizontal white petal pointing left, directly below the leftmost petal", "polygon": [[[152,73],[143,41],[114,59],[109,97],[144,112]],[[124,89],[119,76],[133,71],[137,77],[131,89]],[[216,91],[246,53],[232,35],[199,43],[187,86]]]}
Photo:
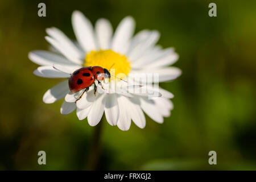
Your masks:
{"label": "horizontal white petal pointing left, directly below the leftmost petal", "polygon": [[68,73],[63,73],[57,71],[52,66],[42,66],[38,67],[34,72],[34,75],[45,77],[45,78],[68,78],[70,75]]}

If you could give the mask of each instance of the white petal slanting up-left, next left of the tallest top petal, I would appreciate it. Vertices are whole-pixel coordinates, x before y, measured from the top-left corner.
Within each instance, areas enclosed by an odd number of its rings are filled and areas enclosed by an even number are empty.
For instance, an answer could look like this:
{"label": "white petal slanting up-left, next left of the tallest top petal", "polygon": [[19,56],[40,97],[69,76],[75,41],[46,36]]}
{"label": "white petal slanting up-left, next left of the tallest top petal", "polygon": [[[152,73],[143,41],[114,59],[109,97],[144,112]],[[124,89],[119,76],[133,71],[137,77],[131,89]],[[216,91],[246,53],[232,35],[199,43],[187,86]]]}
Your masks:
{"label": "white petal slanting up-left, next left of the tallest top petal", "polygon": [[77,59],[84,58],[84,52],[81,52],[75,46],[75,44],[58,28],[55,28],[55,27],[47,28],[46,32],[49,36],[51,36],[53,39],[59,42],[62,46],[64,46],[65,49],[68,50]]}

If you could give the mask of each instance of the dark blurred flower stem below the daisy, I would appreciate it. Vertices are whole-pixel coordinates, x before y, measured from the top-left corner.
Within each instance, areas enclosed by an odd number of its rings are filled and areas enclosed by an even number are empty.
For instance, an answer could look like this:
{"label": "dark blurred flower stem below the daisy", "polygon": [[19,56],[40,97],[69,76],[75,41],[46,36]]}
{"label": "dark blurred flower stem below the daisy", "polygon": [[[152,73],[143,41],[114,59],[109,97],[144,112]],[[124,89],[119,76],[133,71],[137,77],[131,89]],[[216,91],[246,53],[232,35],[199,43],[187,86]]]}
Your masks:
{"label": "dark blurred flower stem below the daisy", "polygon": [[101,130],[102,130],[102,123],[103,117],[101,118],[100,123],[95,126],[94,134],[92,138],[92,147],[89,153],[89,160],[87,170],[93,171],[97,169],[98,160],[100,159],[100,140],[101,140]]}

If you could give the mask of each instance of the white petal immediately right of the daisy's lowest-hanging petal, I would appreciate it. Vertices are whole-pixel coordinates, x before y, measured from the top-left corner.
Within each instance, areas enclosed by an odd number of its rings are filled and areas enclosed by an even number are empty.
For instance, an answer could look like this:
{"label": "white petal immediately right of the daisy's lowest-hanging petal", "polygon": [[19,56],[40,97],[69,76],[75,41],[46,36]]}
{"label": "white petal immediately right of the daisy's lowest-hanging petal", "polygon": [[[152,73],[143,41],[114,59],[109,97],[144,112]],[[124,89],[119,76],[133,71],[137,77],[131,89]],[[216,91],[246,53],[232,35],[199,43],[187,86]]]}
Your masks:
{"label": "white petal immediately right of the daisy's lowest-hanging petal", "polygon": [[126,102],[127,111],[128,111],[128,114],[131,115],[131,120],[133,120],[135,125],[143,129],[146,126],[146,119],[141,110],[141,107],[139,106],[138,100],[127,99],[127,98],[126,100],[127,100]]}

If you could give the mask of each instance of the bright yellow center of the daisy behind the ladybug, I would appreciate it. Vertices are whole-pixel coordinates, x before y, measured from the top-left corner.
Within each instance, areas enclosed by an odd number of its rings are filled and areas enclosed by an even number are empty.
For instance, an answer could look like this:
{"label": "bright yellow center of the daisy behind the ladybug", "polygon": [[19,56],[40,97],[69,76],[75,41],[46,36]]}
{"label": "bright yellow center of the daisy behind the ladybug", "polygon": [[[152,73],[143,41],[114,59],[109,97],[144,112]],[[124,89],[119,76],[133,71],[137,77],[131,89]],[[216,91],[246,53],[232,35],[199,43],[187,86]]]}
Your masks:
{"label": "bright yellow center of the daisy behind the ladybug", "polygon": [[121,78],[121,75],[128,75],[130,72],[131,66],[130,61],[127,59],[125,55],[120,55],[117,52],[114,52],[110,49],[108,50],[100,50],[100,51],[90,51],[86,53],[85,57],[85,67],[94,67],[99,66],[102,68],[106,68],[110,71],[111,75],[114,75]]}

